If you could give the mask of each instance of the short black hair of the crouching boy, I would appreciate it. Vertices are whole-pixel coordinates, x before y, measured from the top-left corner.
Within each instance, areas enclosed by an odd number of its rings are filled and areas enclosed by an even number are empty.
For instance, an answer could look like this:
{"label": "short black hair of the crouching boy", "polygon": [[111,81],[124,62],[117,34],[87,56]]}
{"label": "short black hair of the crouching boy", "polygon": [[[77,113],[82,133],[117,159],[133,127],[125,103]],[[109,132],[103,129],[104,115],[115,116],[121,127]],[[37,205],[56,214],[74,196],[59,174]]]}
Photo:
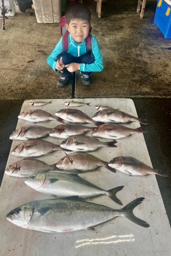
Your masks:
{"label": "short black hair of the crouching boy", "polygon": [[78,2],[77,4],[71,4],[65,13],[67,24],[71,20],[86,20],[90,23],[91,12],[87,6]]}

